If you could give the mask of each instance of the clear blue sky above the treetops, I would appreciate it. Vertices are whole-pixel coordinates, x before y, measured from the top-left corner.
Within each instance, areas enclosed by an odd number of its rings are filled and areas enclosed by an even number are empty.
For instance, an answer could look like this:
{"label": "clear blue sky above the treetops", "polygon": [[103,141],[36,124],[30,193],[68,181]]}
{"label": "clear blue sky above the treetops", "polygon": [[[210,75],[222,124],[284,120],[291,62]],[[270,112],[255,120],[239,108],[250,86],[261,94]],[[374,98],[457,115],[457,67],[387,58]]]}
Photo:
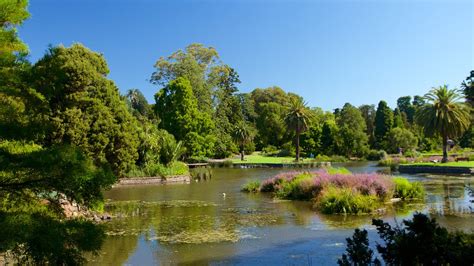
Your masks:
{"label": "clear blue sky above the treetops", "polygon": [[101,52],[122,92],[148,82],[160,56],[197,42],[217,49],[242,92],[273,85],[325,110],[433,86],[474,69],[472,1],[30,0],[20,28],[31,60],[49,44]]}

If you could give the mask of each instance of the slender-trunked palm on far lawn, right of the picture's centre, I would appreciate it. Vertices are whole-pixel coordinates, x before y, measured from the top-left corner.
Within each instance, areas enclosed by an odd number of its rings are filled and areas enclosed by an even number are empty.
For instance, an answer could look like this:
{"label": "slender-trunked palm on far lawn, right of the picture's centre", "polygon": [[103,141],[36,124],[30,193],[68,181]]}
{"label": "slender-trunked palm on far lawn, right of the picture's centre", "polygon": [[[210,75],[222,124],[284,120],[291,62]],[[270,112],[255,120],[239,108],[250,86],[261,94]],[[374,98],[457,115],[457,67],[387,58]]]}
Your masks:
{"label": "slender-trunked palm on far lawn, right of the picture's centre", "polygon": [[300,135],[305,132],[313,116],[311,110],[301,98],[292,97],[285,115],[285,124],[296,133],[296,161],[300,160]]}

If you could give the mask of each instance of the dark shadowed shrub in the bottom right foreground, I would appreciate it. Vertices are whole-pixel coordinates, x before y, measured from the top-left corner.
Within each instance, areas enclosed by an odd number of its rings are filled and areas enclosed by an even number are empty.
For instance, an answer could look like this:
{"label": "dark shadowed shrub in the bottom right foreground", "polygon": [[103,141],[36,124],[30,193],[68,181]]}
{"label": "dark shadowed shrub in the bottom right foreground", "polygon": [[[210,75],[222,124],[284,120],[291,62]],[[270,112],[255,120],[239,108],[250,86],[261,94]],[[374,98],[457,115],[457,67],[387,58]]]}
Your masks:
{"label": "dark shadowed shrub in the bottom right foreground", "polygon": [[[434,218],[415,213],[412,220],[404,220],[403,227],[392,227],[382,220],[372,224],[383,244],[377,251],[387,265],[471,265],[474,263],[474,234],[449,232],[438,225]],[[347,254],[339,260],[340,265],[380,265],[373,259],[368,247],[366,230],[356,229],[352,239],[347,239]]]}

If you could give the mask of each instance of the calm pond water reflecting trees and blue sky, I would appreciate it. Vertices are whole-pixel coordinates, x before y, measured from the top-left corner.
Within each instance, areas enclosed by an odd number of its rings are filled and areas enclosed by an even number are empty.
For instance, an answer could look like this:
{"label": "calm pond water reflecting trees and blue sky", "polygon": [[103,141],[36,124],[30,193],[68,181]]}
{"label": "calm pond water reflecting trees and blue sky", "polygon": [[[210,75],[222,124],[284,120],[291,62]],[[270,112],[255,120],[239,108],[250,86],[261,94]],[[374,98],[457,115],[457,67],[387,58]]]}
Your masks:
{"label": "calm pond water reflecting trees and blue sky", "polygon": [[[342,163],[352,172],[381,170],[375,163]],[[396,204],[383,215],[323,215],[308,202],[240,192],[250,180],[287,169],[212,169],[209,181],[116,187],[105,196],[120,217],[90,265],[334,265],[354,228],[369,230],[374,217],[389,222],[430,213],[445,227],[474,230],[474,177],[404,175],[421,181],[424,203]],[[123,217],[122,217],[123,216]],[[372,243],[373,244],[373,243]]]}

